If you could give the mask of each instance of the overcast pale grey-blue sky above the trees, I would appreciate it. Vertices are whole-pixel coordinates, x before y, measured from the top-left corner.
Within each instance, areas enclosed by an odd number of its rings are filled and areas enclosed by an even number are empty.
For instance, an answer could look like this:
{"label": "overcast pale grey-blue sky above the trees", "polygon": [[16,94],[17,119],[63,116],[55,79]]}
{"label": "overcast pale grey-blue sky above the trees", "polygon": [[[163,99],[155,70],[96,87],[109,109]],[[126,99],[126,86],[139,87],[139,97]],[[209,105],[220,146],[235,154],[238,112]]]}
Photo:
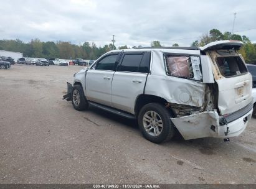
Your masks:
{"label": "overcast pale grey-blue sky above the trees", "polygon": [[[211,29],[247,35],[256,42],[254,0],[0,0],[0,39],[62,40],[116,46],[153,40],[191,45]],[[249,30],[250,29],[250,30]]]}

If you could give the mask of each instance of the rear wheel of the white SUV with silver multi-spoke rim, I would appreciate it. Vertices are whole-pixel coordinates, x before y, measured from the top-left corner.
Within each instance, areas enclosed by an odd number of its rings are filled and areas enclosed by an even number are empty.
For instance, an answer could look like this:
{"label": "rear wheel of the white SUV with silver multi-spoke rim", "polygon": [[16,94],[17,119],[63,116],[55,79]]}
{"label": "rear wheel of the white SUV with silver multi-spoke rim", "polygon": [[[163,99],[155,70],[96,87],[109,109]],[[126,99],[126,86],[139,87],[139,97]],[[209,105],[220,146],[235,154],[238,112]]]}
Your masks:
{"label": "rear wheel of the white SUV with silver multi-spoke rim", "polygon": [[171,113],[162,104],[149,103],[141,108],[138,116],[140,131],[148,141],[169,141],[175,134]]}

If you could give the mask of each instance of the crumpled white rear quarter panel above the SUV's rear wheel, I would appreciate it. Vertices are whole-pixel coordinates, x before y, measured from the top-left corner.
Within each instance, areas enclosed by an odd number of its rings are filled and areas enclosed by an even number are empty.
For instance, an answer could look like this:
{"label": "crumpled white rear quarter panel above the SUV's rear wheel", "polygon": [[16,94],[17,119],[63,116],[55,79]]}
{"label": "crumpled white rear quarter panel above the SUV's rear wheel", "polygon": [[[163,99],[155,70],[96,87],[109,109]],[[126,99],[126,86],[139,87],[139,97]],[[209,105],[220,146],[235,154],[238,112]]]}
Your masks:
{"label": "crumpled white rear quarter panel above the SUV's rear wheel", "polygon": [[152,50],[151,74],[146,81],[145,94],[160,96],[168,103],[201,107],[204,103],[206,84],[166,75],[164,53],[200,55],[198,50]]}

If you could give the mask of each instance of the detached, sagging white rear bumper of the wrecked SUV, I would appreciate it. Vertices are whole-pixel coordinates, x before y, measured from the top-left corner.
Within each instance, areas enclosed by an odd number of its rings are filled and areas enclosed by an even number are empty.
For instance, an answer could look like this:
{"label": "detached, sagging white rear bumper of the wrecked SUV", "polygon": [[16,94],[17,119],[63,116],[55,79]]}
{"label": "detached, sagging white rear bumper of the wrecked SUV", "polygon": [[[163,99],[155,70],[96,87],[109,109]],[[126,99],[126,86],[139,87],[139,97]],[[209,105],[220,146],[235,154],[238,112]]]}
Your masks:
{"label": "detached, sagging white rear bumper of the wrecked SUV", "polygon": [[239,136],[252,118],[252,103],[228,116],[219,116],[217,111],[192,114],[181,118],[171,118],[184,139],[203,137]]}

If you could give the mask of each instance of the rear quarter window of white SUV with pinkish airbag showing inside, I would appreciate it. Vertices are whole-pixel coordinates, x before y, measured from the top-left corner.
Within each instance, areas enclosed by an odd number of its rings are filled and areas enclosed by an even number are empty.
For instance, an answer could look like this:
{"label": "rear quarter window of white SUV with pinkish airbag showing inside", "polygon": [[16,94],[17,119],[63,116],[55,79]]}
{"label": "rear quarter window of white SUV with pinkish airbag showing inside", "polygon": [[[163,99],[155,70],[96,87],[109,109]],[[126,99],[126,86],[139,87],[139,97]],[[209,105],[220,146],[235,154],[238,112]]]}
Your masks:
{"label": "rear quarter window of white SUV with pinkish airbag showing inside", "polygon": [[166,55],[165,58],[168,75],[202,80],[199,57]]}

